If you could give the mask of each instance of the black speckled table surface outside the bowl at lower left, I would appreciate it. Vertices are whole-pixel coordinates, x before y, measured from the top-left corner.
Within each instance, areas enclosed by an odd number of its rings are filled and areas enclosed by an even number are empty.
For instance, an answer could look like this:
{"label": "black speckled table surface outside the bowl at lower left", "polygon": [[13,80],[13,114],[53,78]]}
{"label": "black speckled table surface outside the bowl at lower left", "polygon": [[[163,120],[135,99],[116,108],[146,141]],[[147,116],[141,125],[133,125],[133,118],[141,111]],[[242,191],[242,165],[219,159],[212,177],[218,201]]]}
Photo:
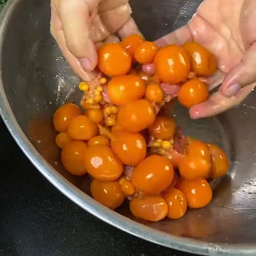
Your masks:
{"label": "black speckled table surface outside the bowl at lower left", "polygon": [[1,118],[0,134],[0,256],[193,256],[96,219],[36,170]]}

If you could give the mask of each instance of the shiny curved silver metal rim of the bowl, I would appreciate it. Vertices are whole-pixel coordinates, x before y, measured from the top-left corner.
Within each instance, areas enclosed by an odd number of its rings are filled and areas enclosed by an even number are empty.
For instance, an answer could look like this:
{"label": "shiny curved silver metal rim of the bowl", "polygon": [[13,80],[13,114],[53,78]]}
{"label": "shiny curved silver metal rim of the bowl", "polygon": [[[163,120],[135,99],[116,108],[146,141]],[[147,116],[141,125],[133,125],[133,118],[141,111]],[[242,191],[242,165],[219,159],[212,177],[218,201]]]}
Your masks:
{"label": "shiny curved silver metal rim of the bowl", "polygon": [[[0,56],[2,56],[3,52],[4,35],[8,28],[8,22],[15,8],[21,1],[23,0],[8,0],[0,14]],[[183,252],[211,256],[256,255],[256,245],[209,243],[193,238],[167,234],[163,231],[150,228],[108,209],[76,188],[50,164],[48,164],[48,162],[46,162],[23,133],[20,125],[14,117],[14,114],[12,113],[11,106],[5,94],[2,79],[2,62],[0,63],[0,114],[12,137],[36,169],[41,172],[44,177],[61,193],[100,220],[103,220],[104,222],[133,236]]]}

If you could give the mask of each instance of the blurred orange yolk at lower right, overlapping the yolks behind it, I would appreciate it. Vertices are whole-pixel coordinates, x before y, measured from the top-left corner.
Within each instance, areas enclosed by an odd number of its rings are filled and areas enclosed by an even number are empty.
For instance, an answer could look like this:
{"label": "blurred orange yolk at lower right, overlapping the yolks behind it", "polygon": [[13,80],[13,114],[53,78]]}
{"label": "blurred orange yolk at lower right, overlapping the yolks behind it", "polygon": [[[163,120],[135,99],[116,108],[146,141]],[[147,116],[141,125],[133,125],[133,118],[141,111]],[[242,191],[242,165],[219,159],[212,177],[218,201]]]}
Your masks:
{"label": "blurred orange yolk at lower right, overlapping the yolks behind it", "polygon": [[180,176],[186,180],[195,178],[208,179],[211,164],[202,156],[185,156],[179,164]]}

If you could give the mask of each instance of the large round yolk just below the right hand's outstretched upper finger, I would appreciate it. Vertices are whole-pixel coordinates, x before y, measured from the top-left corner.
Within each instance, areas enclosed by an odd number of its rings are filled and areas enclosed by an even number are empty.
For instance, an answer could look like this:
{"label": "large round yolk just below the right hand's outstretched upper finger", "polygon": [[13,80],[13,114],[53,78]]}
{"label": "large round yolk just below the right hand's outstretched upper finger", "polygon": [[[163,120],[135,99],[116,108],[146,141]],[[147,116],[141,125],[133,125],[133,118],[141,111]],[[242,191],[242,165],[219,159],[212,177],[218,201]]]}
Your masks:
{"label": "large round yolk just below the right hand's outstretched upper finger", "polygon": [[187,51],[176,44],[161,48],[155,58],[156,74],[165,84],[178,84],[188,77],[190,58]]}

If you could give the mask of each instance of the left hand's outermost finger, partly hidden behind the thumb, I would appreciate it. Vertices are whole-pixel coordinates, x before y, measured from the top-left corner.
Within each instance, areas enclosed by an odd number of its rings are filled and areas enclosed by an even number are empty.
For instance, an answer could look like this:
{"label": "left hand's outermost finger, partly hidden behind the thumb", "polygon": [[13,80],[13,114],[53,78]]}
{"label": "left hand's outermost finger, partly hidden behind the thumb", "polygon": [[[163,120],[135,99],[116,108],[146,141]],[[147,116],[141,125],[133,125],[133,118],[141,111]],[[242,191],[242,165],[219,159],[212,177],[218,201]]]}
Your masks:
{"label": "left hand's outermost finger, partly hidden behind the thumb", "polygon": [[57,13],[52,12],[51,33],[57,41],[65,59],[69,62],[71,68],[83,81],[90,81],[96,77],[96,72],[86,72],[80,61],[68,50],[63,30],[61,29],[60,19]]}

